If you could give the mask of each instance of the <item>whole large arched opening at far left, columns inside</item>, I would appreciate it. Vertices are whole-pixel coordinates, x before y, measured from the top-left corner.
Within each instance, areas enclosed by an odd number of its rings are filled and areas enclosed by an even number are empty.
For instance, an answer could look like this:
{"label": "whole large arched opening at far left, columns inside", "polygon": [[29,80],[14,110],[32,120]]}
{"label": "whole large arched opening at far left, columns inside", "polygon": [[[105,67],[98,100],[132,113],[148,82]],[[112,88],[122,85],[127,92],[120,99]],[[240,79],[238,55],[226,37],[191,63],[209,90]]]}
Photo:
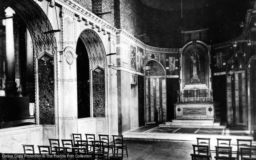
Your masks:
{"label": "whole large arched opening at far left, columns inside", "polygon": [[0,128],[54,125],[56,39],[43,34],[52,26],[33,0],[4,1],[0,10]]}

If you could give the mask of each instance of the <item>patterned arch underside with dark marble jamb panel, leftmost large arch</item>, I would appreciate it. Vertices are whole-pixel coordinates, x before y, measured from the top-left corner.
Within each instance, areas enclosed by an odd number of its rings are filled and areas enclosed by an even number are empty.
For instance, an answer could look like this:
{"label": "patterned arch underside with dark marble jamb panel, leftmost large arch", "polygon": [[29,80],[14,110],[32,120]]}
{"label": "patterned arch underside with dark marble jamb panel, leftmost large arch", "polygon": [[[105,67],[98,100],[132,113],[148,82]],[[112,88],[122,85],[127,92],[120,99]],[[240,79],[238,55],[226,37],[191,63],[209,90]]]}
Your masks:
{"label": "patterned arch underside with dark marble jamb panel, leftmost large arch", "polygon": [[[38,4],[40,3],[40,5]],[[55,86],[54,86],[54,63],[57,55],[57,45],[54,33],[44,34],[45,31],[53,30],[52,24],[45,14],[43,8],[49,7],[48,1],[35,2],[33,0],[3,1],[3,7],[10,7],[19,15],[25,23],[31,36],[31,45],[33,45],[35,74],[35,113],[37,124],[54,125],[55,124]],[[49,9],[54,9],[49,7]],[[44,62],[47,61],[47,67]],[[51,72],[46,71],[46,68]],[[41,76],[38,76],[40,75]],[[44,75],[44,76],[42,76]],[[32,76],[33,77],[33,76]],[[47,84],[46,84],[47,82]],[[40,92],[40,94],[39,94]],[[39,118],[41,117],[41,118]]]}

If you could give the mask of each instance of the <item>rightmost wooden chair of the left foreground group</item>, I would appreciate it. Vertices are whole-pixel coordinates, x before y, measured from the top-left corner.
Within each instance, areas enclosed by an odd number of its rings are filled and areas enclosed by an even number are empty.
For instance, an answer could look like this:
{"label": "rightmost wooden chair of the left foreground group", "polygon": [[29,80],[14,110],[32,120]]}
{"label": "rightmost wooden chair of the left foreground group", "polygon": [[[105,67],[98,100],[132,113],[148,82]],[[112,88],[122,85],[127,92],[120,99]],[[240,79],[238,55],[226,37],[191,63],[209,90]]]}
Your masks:
{"label": "rightmost wooden chair of the left foreground group", "polygon": [[[127,146],[124,145],[123,135],[122,136],[113,135],[113,145],[114,145],[114,156],[121,155],[121,157],[123,157],[124,150],[125,150],[126,151],[125,155],[128,157]],[[118,149],[121,149],[122,153],[118,153]],[[117,153],[116,153],[116,151],[117,151]]]}

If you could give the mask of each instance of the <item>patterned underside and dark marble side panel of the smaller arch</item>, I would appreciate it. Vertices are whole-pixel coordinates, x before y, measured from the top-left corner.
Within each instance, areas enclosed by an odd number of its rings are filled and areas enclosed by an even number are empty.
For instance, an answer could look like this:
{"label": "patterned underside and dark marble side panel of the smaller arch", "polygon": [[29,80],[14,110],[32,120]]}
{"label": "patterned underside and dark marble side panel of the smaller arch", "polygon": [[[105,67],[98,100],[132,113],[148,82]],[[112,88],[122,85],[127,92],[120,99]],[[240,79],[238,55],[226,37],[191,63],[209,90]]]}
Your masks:
{"label": "patterned underside and dark marble side panel of the smaller arch", "polygon": [[[105,117],[107,106],[107,59],[105,48],[99,35],[92,29],[83,30],[79,35],[78,41],[80,41],[79,39],[82,40],[89,59],[90,117]],[[77,66],[79,67],[79,64]],[[78,88],[78,92],[79,90],[80,88]]]}

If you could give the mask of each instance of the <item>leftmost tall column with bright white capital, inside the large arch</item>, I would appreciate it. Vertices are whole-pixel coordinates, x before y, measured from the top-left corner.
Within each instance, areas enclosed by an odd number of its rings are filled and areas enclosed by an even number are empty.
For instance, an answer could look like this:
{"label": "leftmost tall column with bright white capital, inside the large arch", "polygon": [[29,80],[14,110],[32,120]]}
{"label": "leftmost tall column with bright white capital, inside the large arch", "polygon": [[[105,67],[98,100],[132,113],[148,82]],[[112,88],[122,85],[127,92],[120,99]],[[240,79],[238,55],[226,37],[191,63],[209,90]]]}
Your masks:
{"label": "leftmost tall column with bright white capital, inside the large arch", "polygon": [[6,42],[6,81],[5,91],[7,96],[16,96],[17,88],[15,82],[15,54],[13,15],[15,11],[11,7],[5,9],[5,42]]}

